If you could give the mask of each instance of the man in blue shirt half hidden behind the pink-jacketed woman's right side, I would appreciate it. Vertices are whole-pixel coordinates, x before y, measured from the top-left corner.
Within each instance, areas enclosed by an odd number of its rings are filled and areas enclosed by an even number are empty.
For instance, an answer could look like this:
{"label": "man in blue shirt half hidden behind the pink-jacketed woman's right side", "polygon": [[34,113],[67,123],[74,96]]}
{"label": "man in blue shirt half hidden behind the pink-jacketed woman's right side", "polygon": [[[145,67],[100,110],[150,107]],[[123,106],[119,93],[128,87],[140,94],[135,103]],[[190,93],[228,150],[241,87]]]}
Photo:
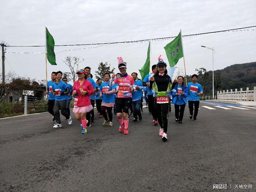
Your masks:
{"label": "man in blue shirt half hidden behind the pink-jacketed woman's right side", "polygon": [[[92,74],[90,73],[91,68],[89,66],[86,66],[84,70],[85,70],[87,81],[89,81],[92,84],[92,87],[94,88],[94,92],[96,92],[97,85],[94,82],[94,80],[92,79]],[[90,113],[86,114],[86,119],[88,120],[87,127],[91,127],[91,122],[94,121],[94,106],[95,106],[95,95],[94,94],[90,95],[90,100],[91,100],[93,109],[90,111]]]}

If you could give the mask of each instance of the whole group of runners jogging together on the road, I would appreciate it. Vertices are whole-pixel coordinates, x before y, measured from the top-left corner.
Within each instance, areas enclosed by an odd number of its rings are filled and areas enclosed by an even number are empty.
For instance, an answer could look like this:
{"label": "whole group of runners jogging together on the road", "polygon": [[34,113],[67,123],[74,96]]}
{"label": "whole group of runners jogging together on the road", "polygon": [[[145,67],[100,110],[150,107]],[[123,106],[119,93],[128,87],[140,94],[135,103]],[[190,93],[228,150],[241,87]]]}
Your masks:
{"label": "whole group of runners jogging together on the road", "polygon": [[[47,82],[48,111],[56,121],[54,128],[61,127],[60,114],[66,117],[69,125],[72,120],[69,113],[71,96],[74,97],[73,112],[78,121],[81,122],[82,134],[87,133],[87,128],[94,121],[94,106],[99,117],[104,117],[103,126],[113,126],[112,109],[120,123],[119,132],[129,134],[129,109],[133,111],[133,121],[142,120],[143,91],[153,117],[153,125],[160,125],[159,135],[162,140],[167,140],[168,112],[171,111],[172,103],[175,105],[175,121],[182,123],[185,105],[190,109],[190,119],[197,121],[199,107],[199,95],[202,94],[202,87],[197,83],[197,75],[192,76],[192,82],[184,84],[184,77],[179,76],[178,80],[172,82],[167,74],[167,64],[161,58],[152,66],[152,73],[148,74],[143,81],[137,78],[137,73],[131,75],[126,73],[127,64],[122,57],[118,57],[118,68],[120,73],[104,74],[104,79],[92,79],[90,67],[77,71],[78,80],[73,87],[62,79],[62,72],[52,72],[52,80]],[[62,81],[61,81],[62,80]],[[53,111],[54,106],[54,111]],[[107,111],[107,112],[106,112]],[[193,114],[194,113],[194,114]],[[193,116],[194,115],[194,116]]]}

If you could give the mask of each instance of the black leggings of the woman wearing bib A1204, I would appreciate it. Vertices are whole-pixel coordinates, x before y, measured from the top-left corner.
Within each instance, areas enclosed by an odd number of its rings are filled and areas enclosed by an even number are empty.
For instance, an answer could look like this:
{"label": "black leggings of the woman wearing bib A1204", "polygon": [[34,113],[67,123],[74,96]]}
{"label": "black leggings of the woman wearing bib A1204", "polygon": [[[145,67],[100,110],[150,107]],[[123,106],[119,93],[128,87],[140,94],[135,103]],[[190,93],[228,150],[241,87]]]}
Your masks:
{"label": "black leggings of the woman wearing bib A1204", "polygon": [[[164,128],[164,133],[167,133],[167,128],[168,128],[168,119],[167,119],[167,114],[168,114],[168,108],[169,104],[168,103],[156,103],[156,114],[157,114],[157,119],[158,123],[161,126],[161,128]],[[152,111],[153,112],[153,111]]]}

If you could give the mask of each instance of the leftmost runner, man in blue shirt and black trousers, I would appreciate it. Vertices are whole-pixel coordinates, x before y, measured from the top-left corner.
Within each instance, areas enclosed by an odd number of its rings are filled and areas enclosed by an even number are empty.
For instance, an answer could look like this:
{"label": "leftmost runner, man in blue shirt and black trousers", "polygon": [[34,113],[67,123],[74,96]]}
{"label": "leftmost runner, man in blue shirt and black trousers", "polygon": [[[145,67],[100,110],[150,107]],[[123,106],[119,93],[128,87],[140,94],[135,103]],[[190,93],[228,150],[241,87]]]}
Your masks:
{"label": "leftmost runner, man in blue shirt and black trousers", "polygon": [[56,72],[52,72],[51,75],[51,81],[47,82],[47,91],[45,94],[48,94],[48,102],[47,102],[47,110],[48,112],[52,115],[52,121],[55,121],[55,116],[54,116],[54,104],[55,104],[55,95],[53,95],[52,91],[52,84],[56,81]]}

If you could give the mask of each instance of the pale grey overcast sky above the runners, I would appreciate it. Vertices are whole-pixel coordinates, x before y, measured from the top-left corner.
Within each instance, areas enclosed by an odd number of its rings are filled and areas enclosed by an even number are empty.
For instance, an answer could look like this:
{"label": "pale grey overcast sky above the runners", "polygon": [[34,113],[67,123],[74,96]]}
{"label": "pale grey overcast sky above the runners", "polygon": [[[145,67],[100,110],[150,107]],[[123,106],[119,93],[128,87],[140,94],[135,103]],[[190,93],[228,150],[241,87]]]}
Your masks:
{"label": "pale grey overcast sky above the runners", "polygon": [[[177,36],[180,29],[188,35],[256,26],[255,10],[255,0],[1,0],[0,41],[9,45],[45,45],[45,26],[55,45],[170,37]],[[163,47],[169,42],[152,41],[152,64],[157,63],[160,54],[168,63]],[[200,67],[212,70],[212,52],[201,45],[215,49],[214,70],[256,61],[256,31],[186,37],[183,49],[188,75]],[[55,47],[55,53],[85,47],[94,46]],[[62,52],[56,54],[57,66],[48,63],[48,80],[51,71],[69,71],[62,62],[66,56],[84,58],[80,68],[91,66],[93,75],[100,62],[117,68],[116,57],[121,56],[127,62],[128,73],[139,73],[147,47],[148,42],[142,42]],[[7,47],[7,52],[45,52],[45,48]],[[43,54],[5,56],[5,73],[14,71],[19,76],[45,79]],[[183,59],[176,66],[184,71]]]}

